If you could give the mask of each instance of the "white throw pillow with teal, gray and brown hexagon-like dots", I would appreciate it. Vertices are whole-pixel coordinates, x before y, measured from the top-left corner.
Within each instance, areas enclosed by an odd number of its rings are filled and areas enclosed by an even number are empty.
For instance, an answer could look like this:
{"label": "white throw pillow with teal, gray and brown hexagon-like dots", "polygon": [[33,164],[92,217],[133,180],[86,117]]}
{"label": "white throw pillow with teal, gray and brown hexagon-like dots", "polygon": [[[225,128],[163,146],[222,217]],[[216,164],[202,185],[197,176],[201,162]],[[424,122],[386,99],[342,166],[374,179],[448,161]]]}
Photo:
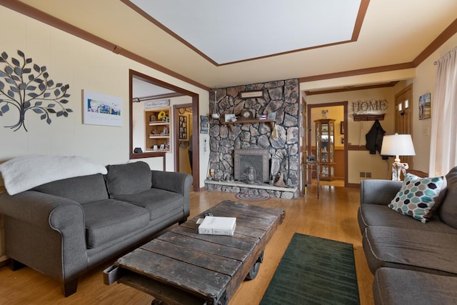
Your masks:
{"label": "white throw pillow with teal, gray and brown hexagon-like dots", "polygon": [[388,206],[424,224],[431,218],[446,194],[446,177],[419,178],[406,174],[400,191]]}

